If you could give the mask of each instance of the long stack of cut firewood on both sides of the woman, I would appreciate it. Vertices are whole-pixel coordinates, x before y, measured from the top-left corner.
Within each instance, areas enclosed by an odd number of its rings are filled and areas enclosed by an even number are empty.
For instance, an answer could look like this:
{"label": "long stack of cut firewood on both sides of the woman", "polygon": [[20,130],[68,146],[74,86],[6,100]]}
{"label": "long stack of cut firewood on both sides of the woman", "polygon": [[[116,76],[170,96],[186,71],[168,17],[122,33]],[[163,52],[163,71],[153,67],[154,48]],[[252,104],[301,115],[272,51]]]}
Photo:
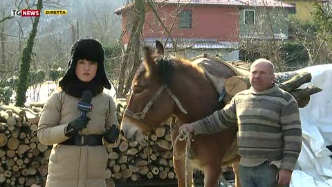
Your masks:
{"label": "long stack of cut firewood on both sides of the woman", "polygon": [[[118,104],[122,119],[124,100]],[[39,143],[37,124],[42,104],[30,108],[0,106],[0,186],[44,186],[52,146]],[[145,141],[127,142],[121,138],[116,148],[107,148],[107,183],[176,179],[172,161],[169,125],[159,127]]]}

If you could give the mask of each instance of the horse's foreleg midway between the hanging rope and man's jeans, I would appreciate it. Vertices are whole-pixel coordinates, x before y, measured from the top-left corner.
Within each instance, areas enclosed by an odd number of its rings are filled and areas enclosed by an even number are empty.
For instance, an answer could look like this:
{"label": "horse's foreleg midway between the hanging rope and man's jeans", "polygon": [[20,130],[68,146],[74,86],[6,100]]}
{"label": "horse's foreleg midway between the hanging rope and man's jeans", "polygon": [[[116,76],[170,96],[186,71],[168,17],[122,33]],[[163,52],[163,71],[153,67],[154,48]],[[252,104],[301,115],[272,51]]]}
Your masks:
{"label": "horse's foreleg midway between the hanging rope and man's jeans", "polygon": [[204,187],[216,187],[219,176],[221,175],[221,167],[208,166],[204,168]]}

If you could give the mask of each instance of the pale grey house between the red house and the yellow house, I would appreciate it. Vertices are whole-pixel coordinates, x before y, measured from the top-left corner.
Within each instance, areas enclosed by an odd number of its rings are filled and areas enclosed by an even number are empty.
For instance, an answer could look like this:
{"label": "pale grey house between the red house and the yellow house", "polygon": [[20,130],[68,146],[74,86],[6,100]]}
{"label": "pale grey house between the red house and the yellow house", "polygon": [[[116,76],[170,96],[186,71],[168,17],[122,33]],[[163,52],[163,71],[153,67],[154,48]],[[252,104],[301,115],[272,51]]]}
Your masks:
{"label": "pale grey house between the red house and the yellow house", "polygon": [[288,11],[292,5],[275,0],[239,0],[240,38],[246,40],[288,39]]}

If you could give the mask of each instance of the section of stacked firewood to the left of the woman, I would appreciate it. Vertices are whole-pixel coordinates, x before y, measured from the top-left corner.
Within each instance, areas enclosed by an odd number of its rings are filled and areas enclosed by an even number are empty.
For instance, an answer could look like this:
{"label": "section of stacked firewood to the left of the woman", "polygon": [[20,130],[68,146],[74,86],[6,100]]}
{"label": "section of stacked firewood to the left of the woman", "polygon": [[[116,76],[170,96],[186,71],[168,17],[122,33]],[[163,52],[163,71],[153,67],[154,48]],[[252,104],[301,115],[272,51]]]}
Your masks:
{"label": "section of stacked firewood to the left of the woman", "polygon": [[44,184],[50,147],[39,143],[40,109],[0,107],[0,186]]}

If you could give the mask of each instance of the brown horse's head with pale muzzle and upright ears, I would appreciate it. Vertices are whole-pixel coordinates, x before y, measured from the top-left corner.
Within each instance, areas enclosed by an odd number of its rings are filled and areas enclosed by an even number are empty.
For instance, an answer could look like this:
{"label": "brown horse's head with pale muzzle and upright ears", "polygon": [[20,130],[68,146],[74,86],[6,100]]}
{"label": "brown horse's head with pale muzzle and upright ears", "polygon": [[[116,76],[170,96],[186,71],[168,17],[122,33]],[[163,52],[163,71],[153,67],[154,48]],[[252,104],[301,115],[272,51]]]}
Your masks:
{"label": "brown horse's head with pale muzzle and upright ears", "polygon": [[145,59],[131,84],[132,94],[122,119],[122,135],[128,141],[142,141],[173,114],[174,100],[169,89],[172,62],[163,57],[164,47],[145,47]]}

